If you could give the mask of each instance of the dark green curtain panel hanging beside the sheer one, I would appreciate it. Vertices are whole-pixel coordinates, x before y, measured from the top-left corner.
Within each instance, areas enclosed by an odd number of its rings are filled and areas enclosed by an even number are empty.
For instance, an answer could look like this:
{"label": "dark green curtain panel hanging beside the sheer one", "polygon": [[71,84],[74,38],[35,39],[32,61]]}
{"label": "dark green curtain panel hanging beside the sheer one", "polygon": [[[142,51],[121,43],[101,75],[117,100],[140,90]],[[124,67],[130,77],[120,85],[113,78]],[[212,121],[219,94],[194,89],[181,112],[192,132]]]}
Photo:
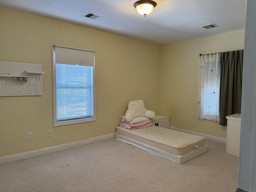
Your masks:
{"label": "dark green curtain panel hanging beside the sheer one", "polygon": [[241,113],[244,50],[220,53],[220,125],[227,126],[226,116]]}

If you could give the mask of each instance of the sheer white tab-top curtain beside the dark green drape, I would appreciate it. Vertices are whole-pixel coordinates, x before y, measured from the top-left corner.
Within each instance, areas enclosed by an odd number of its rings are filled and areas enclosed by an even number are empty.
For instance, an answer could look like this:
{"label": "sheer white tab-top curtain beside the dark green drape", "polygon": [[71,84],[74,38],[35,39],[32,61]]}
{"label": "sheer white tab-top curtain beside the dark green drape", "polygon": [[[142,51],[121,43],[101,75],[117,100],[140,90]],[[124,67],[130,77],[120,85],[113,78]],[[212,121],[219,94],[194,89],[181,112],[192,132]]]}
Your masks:
{"label": "sheer white tab-top curtain beside the dark green drape", "polygon": [[219,54],[199,56],[198,119],[218,121],[219,78]]}

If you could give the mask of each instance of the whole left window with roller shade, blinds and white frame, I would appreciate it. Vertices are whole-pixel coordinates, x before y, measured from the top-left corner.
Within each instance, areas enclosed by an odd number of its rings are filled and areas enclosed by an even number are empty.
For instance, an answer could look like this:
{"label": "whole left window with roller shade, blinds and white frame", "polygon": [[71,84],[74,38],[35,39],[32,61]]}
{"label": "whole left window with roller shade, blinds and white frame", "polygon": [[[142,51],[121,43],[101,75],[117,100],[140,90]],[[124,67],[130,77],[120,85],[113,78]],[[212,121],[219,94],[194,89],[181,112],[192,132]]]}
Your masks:
{"label": "whole left window with roller shade, blinds and white frame", "polygon": [[54,126],[95,120],[94,51],[55,45]]}

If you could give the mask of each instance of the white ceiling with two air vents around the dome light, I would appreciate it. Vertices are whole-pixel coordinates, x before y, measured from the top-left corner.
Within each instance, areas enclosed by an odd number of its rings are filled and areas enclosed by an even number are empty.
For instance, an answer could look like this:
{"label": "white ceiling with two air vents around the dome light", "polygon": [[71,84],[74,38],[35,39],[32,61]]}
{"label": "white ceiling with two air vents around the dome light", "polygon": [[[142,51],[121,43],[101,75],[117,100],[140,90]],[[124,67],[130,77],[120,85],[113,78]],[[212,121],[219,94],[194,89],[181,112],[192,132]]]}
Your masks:
{"label": "white ceiling with two air vents around the dome light", "polygon": [[[155,0],[157,6],[146,17],[138,14],[134,2],[136,0],[0,0],[0,6],[156,44],[245,27],[246,0]],[[84,17],[88,12],[101,17]],[[201,27],[212,23],[218,27]]]}

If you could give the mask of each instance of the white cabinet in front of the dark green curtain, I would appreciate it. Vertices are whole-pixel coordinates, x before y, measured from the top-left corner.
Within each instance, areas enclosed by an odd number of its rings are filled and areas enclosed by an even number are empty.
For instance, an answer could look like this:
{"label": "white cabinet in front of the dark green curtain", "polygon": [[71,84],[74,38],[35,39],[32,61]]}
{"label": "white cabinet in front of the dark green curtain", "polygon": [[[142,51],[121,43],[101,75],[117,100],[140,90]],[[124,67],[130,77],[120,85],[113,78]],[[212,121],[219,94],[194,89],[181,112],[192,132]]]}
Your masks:
{"label": "white cabinet in front of the dark green curtain", "polygon": [[226,116],[226,119],[228,120],[226,153],[239,156],[241,114],[232,114]]}

